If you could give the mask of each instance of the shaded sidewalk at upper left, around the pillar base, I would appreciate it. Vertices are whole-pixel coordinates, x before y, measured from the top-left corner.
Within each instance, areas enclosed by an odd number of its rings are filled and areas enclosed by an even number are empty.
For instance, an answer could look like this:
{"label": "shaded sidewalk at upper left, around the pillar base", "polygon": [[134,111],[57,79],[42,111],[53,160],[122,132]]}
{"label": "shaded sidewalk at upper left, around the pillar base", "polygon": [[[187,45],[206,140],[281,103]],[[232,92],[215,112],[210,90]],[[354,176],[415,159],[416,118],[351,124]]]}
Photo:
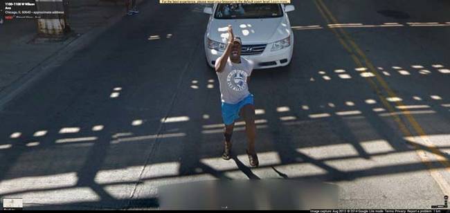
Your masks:
{"label": "shaded sidewalk at upper left, around the pillar base", "polygon": [[75,36],[61,42],[40,44],[31,42],[37,32],[34,19],[5,21],[0,25],[0,98],[12,84],[20,84],[19,80],[29,77],[27,74],[33,73],[38,66],[60,56],[61,50],[73,41],[87,37],[87,33],[105,27],[123,15],[125,6],[120,0],[72,1],[68,22]]}

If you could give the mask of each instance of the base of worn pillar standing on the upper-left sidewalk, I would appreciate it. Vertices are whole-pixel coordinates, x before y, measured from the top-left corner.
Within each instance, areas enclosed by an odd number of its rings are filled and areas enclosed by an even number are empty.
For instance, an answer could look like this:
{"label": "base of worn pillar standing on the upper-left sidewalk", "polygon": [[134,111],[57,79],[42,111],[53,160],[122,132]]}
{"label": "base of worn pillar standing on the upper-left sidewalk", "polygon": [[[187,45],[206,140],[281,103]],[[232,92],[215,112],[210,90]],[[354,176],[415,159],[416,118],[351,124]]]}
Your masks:
{"label": "base of worn pillar standing on the upper-left sidewalk", "polygon": [[71,32],[67,24],[69,1],[35,0],[37,11],[45,12],[37,19],[39,37],[61,39]]}

